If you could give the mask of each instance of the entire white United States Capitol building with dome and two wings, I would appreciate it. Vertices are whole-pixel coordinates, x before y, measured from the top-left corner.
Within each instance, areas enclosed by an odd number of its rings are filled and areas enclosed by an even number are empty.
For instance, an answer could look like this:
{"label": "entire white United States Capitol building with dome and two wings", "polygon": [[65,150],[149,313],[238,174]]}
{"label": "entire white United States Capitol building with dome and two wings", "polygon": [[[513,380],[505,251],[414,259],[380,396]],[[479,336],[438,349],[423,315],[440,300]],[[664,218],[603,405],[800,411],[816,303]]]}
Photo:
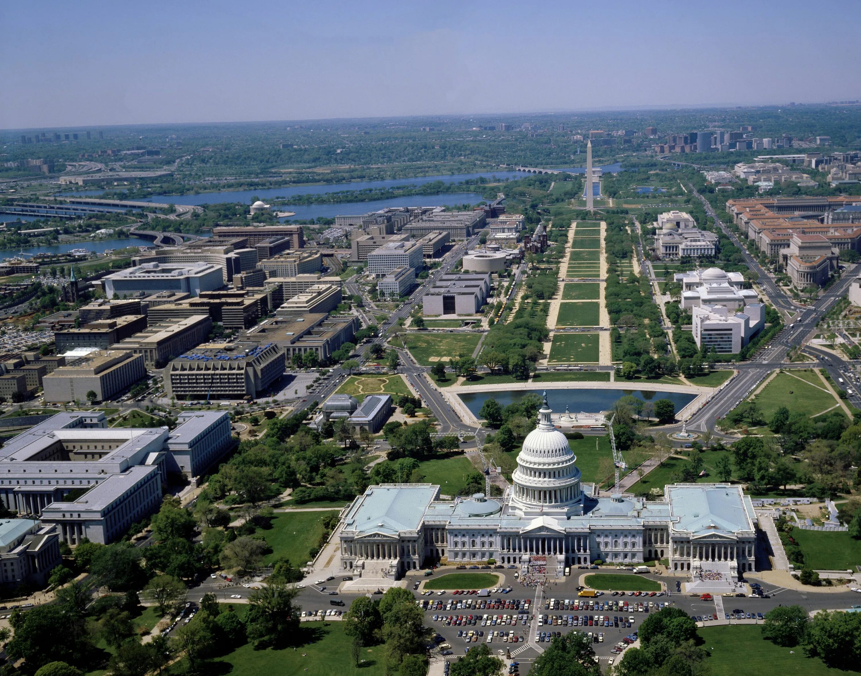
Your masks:
{"label": "entire white United States Capitol building with dome and two wings", "polygon": [[436,563],[537,564],[562,574],[592,561],[668,559],[672,571],[727,580],[754,569],[757,518],[739,486],[675,484],[660,501],[598,497],[550,417],[545,398],[499,499],[441,500],[431,484],[369,487],[342,515],[344,570],[370,584]]}

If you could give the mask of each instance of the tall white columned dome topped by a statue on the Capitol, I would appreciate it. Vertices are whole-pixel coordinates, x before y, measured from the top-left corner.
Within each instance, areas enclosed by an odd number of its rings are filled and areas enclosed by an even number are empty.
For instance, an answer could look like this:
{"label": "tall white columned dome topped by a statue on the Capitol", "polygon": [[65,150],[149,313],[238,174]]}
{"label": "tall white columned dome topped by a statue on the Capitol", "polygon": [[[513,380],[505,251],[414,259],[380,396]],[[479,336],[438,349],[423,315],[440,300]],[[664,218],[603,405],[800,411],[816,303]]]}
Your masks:
{"label": "tall white columned dome topped by a statue on the Capitol", "polygon": [[511,475],[511,507],[524,515],[582,513],[577,456],[567,437],[554,427],[551,413],[544,393],[538,426],[523,441]]}

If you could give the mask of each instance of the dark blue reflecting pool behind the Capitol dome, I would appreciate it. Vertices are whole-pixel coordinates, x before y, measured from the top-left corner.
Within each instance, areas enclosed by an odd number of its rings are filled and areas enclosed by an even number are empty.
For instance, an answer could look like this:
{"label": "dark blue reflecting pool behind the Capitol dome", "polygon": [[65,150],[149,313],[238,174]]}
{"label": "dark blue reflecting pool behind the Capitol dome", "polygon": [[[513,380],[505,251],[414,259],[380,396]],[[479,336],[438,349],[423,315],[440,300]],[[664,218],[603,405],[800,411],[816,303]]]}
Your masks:
{"label": "dark blue reflecting pool behind the Capitol dome", "polygon": [[[467,392],[459,394],[464,404],[479,417],[481,406],[488,399],[495,399],[501,406],[523,399],[526,394],[537,394],[542,396],[543,389],[520,390],[516,392]],[[622,399],[626,394],[633,394],[637,399],[644,401],[657,401],[668,399],[676,405],[676,411],[681,411],[696,398],[696,394],[685,394],[683,392],[662,392],[660,390],[639,389],[548,389],[547,400],[550,408],[556,412],[565,411],[565,407],[573,413],[586,412],[597,413],[609,411],[616,401]]]}

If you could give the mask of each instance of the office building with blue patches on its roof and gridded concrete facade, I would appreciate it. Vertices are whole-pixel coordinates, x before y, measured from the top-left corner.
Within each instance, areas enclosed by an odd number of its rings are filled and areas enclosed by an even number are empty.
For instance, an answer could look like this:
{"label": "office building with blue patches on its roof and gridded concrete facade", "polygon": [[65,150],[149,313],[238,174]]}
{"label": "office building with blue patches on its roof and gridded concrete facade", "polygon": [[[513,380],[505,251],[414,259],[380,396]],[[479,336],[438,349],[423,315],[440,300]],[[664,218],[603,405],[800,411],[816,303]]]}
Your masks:
{"label": "office building with blue patches on its roof and gridded concrete facade", "polygon": [[256,399],[284,368],[284,351],[276,344],[203,344],[164,367],[164,389],[177,399]]}

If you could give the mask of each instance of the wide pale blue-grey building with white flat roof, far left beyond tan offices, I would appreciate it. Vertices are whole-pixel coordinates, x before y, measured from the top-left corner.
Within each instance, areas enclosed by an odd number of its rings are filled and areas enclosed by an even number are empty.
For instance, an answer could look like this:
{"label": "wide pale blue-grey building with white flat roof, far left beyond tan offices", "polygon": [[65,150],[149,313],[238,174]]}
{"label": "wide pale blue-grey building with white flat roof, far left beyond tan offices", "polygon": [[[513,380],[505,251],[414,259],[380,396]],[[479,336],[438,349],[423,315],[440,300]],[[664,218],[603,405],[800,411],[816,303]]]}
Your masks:
{"label": "wide pale blue-grey building with white flat roof, far left beyond tan offices", "polygon": [[214,291],[224,286],[224,277],[219,266],[209,263],[145,263],[114,272],[103,277],[102,282],[108,298],[129,294],[152,295],[159,291],[200,295],[201,291]]}

